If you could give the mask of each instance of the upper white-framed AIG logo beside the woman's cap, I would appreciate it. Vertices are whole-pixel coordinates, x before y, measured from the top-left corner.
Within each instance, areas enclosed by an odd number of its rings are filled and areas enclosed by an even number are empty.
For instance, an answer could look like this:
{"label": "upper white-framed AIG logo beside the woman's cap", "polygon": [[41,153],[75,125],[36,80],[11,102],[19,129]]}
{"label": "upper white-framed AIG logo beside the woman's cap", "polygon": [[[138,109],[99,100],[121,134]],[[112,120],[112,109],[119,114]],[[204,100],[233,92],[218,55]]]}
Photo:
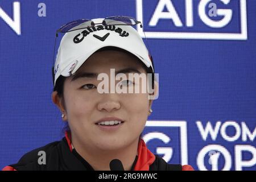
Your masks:
{"label": "upper white-framed AIG logo beside the woman's cap", "polygon": [[246,0],[137,0],[137,19],[146,38],[247,40]]}

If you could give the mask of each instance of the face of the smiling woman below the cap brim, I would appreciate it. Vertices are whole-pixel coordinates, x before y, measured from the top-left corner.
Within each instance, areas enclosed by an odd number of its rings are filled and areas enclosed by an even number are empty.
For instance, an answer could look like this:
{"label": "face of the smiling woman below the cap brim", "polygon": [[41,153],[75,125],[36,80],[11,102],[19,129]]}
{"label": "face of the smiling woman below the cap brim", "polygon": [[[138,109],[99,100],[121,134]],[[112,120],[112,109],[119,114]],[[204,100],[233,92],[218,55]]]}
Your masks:
{"label": "face of the smiling woman below the cap brim", "polygon": [[[137,57],[107,50],[94,53],[75,76],[64,82],[64,114],[72,139],[101,150],[118,150],[135,142],[144,129],[151,105],[148,93],[99,93],[97,86],[102,80],[97,80],[97,75],[106,73],[110,78],[110,68],[127,77],[129,73],[146,74]],[[126,87],[133,85],[122,83]],[[122,123],[114,127],[98,125],[102,119]]]}

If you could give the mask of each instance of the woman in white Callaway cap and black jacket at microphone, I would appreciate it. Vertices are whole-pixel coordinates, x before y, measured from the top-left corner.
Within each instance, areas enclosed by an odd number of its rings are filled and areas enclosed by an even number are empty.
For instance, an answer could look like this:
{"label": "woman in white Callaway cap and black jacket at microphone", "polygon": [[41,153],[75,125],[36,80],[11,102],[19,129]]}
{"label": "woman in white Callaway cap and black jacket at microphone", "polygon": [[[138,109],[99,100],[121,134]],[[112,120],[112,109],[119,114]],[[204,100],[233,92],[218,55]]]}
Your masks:
{"label": "woman in white Callaway cap and black jacket at microphone", "polygon": [[[69,130],[60,142],[28,152],[4,170],[193,169],[167,164],[141,138],[158,85],[146,77],[147,92],[142,92],[143,79],[135,81],[142,75],[154,76],[147,48],[131,27],[138,23],[113,16],[77,20],[58,30],[65,35],[53,73],[52,101]],[[148,91],[150,85],[154,92]],[[46,161],[40,162],[40,151]],[[121,162],[119,167],[110,164],[113,159]]]}

